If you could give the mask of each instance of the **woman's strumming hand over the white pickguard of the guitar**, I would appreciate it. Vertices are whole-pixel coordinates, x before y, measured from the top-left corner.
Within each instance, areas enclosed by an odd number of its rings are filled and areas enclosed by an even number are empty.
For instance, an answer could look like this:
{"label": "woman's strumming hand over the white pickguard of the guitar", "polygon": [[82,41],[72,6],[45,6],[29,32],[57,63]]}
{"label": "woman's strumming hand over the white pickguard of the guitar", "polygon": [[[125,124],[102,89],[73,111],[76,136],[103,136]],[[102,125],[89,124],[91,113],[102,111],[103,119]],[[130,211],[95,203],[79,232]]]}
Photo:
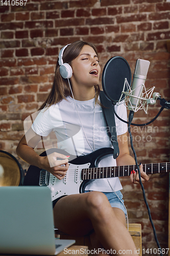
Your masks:
{"label": "woman's strumming hand over the white pickguard of the guitar", "polygon": [[[69,156],[65,156],[57,152],[41,157],[41,168],[47,170],[59,180],[62,180],[68,170],[68,157]],[[59,160],[57,160],[58,158]]]}

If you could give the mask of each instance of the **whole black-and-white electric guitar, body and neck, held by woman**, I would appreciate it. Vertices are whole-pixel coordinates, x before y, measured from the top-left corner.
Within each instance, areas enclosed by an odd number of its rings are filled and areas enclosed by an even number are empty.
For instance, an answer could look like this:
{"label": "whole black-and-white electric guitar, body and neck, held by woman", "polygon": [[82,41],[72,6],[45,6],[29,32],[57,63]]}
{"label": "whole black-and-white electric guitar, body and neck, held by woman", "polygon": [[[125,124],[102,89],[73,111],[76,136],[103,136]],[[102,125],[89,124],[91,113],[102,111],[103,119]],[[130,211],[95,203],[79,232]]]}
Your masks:
{"label": "whole black-and-white electric guitar, body and neck, held by woman", "polygon": [[[69,155],[63,150],[52,148],[43,152],[40,156],[46,156],[58,152]],[[129,176],[136,165],[124,165],[113,167],[98,167],[101,159],[106,156],[113,156],[113,148],[104,147],[86,156],[70,156],[69,167],[62,180],[57,179],[47,170],[30,165],[23,185],[27,186],[48,186],[51,189],[52,201],[65,195],[83,193],[86,185],[95,179],[114,178]],[[170,172],[170,163],[143,164],[143,171],[146,174]]]}

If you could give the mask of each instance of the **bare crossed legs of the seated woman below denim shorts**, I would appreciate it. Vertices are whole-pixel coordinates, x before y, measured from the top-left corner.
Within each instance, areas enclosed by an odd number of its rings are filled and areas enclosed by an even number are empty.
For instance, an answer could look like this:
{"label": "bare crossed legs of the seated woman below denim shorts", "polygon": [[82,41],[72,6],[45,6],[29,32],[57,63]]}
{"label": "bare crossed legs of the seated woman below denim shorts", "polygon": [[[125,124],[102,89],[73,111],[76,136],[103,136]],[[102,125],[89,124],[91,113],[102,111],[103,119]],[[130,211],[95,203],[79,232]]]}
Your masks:
{"label": "bare crossed legs of the seated woman below denim shorts", "polygon": [[112,208],[101,192],[91,191],[60,199],[54,207],[54,222],[59,230],[77,236],[94,229],[105,250],[114,249],[117,255],[126,250],[124,255],[136,256],[135,244],[125,226],[124,212]]}

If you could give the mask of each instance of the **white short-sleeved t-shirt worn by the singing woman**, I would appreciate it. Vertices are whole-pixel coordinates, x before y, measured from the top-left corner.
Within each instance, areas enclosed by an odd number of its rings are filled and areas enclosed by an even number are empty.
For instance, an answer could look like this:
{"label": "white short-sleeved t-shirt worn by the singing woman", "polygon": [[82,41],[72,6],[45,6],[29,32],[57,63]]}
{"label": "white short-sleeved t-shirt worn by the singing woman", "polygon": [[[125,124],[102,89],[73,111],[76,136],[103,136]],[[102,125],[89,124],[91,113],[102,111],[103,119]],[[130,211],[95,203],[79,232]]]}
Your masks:
{"label": "white short-sleeved t-shirt worn by the singing woman", "polygon": [[[33,131],[44,137],[55,132],[58,148],[71,155],[87,155],[92,152],[92,148],[98,150],[102,147],[112,147],[102,108],[94,104],[95,99],[87,101],[74,101],[71,97],[66,99],[50,106],[47,110],[41,110],[32,125]],[[127,120],[127,110],[124,104],[116,105],[115,110],[120,118]],[[116,117],[115,123],[117,135],[127,132],[126,123]],[[100,161],[100,166],[116,166],[116,160],[112,156],[106,157]],[[96,179],[86,186],[86,190],[110,192],[112,189],[108,180],[114,191],[122,189],[117,177]]]}

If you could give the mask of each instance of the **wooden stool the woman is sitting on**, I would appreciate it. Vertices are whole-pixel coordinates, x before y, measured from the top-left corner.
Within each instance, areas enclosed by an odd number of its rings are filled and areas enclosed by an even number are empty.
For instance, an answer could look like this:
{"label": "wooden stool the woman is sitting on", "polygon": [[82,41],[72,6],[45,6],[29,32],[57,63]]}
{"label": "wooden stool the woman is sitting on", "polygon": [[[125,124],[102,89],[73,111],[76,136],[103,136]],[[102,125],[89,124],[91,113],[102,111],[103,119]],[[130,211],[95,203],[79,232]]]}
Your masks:
{"label": "wooden stool the woman is sitting on", "polygon": [[[129,224],[129,232],[131,234],[131,237],[135,243],[136,246],[136,254],[138,253],[139,256],[142,255],[142,244],[141,244],[141,224],[137,223],[130,223]],[[92,249],[91,243],[90,243],[90,236],[87,234],[83,237],[76,237],[76,236],[70,236],[69,234],[65,234],[59,230],[56,230],[56,234],[60,234],[60,239],[73,239],[76,240],[75,245],[84,245],[88,246],[88,249]]]}

